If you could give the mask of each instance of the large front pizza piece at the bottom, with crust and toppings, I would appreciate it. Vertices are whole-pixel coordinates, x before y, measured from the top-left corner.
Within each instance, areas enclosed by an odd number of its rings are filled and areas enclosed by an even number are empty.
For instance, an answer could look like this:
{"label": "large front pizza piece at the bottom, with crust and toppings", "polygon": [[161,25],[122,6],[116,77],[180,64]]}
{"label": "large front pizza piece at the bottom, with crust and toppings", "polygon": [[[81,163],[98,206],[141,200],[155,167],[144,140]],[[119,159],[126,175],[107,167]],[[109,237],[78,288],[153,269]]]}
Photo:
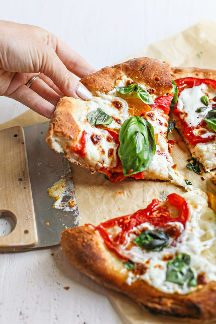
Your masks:
{"label": "large front pizza piece at the bottom, with crust and toppings", "polygon": [[215,319],[216,197],[208,195],[172,193],[134,214],[66,229],[63,252],[97,283],[154,314]]}

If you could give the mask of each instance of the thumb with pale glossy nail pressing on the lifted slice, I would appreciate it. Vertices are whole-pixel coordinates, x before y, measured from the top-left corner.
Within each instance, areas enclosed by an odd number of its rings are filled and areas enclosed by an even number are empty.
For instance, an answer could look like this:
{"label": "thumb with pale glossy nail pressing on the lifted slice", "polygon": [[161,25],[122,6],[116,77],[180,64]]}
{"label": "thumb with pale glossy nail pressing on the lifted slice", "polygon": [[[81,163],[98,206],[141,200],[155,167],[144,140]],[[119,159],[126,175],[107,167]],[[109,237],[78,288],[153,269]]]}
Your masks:
{"label": "thumb with pale glossy nail pressing on the lifted slice", "polygon": [[40,72],[48,76],[64,95],[84,100],[92,98],[91,92],[68,71],[50,46],[43,51]]}

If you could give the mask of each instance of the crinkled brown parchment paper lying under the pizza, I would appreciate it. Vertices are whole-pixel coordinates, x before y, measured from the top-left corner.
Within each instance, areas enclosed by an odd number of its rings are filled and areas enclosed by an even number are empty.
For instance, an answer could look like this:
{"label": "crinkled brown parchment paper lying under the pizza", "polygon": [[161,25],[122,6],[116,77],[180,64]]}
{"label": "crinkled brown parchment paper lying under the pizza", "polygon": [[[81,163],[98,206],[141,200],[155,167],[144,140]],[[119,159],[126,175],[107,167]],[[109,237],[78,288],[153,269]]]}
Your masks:
{"label": "crinkled brown parchment paper lying under the pizza", "polygon": [[[216,69],[216,24],[201,20],[199,24],[173,36],[167,40],[153,43],[148,48],[122,59],[149,56],[169,62],[171,66],[204,67]],[[197,55],[203,52],[201,58]],[[28,110],[17,118],[0,124],[0,129],[21,125],[27,126],[46,121],[45,117]],[[201,176],[186,168],[186,160],[191,157],[179,134],[174,130],[169,138],[176,140],[172,157],[178,170],[192,182],[194,187],[203,191],[211,191],[216,195],[216,186],[210,180],[210,174]],[[145,208],[154,198],[164,200],[169,193],[184,193],[184,188],[163,181],[129,180],[125,179],[112,184],[101,173],[92,175],[89,170],[73,166],[74,188],[80,214],[80,225],[94,225],[109,218],[134,213]],[[57,179],[58,180],[58,179]],[[131,299],[108,290],[108,298],[119,313],[120,318],[129,324],[162,324],[177,323],[167,318],[150,315],[141,309]]]}

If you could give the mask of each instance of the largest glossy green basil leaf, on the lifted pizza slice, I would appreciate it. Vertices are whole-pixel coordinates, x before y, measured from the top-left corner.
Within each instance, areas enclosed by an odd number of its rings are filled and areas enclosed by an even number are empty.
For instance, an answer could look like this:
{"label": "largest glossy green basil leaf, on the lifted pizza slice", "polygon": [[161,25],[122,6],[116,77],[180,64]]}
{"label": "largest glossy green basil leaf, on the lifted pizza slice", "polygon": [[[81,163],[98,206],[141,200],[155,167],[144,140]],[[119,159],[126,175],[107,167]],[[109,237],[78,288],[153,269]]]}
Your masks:
{"label": "largest glossy green basil leaf, on the lifted pizza slice", "polygon": [[119,142],[119,158],[124,176],[148,168],[156,150],[154,129],[148,121],[138,116],[124,121],[119,131]]}

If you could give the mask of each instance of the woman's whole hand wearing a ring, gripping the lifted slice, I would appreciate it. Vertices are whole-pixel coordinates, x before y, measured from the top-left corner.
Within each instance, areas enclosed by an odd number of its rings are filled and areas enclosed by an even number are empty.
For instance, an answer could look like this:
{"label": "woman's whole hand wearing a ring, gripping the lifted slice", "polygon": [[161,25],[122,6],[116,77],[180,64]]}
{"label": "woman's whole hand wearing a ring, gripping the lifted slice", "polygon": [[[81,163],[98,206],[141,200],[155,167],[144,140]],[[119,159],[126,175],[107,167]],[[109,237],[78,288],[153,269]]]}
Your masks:
{"label": "woman's whole hand wearing a ring, gripping the lifted slice", "polygon": [[[39,27],[0,20],[0,96],[13,98],[50,118],[62,94],[89,100],[74,78],[95,72],[80,55]],[[72,73],[71,73],[72,72]],[[31,88],[25,84],[38,75]]]}

